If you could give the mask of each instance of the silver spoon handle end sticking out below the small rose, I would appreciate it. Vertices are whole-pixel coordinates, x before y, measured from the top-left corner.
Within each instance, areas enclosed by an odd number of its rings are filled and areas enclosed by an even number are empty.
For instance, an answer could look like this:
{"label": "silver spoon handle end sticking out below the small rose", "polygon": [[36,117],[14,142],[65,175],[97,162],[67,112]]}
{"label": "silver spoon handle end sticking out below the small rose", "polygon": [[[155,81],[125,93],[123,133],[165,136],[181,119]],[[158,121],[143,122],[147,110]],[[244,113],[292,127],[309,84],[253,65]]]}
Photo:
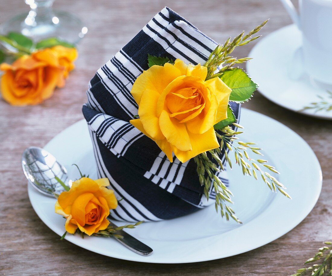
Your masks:
{"label": "silver spoon handle end sticking out below the small rose", "polygon": [[[117,226],[110,221],[110,225],[116,228]],[[143,255],[149,256],[152,254],[153,250],[151,247],[147,246],[143,242],[129,235],[124,230],[118,230],[117,234],[123,236],[123,238],[116,238],[120,243],[122,243],[125,247],[129,248],[131,251]]]}

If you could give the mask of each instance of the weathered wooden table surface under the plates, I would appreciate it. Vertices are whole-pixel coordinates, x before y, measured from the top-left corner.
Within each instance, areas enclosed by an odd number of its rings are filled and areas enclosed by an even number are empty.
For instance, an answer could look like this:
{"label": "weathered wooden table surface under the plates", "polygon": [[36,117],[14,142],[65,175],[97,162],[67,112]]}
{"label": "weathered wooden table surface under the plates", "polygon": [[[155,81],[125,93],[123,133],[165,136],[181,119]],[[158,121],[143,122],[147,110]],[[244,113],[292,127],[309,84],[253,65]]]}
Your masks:
{"label": "weathered wooden table surface under the plates", "polygon": [[[249,108],[290,127],[313,148],[323,171],[323,189],[310,215],[295,229],[258,249],[192,264],[145,264],[105,257],[68,241],[34,212],[22,173],[21,154],[44,146],[83,118],[88,81],[164,6],[184,16],[217,42],[250,31],[267,18],[266,35],[291,23],[279,0],[58,0],[54,7],[84,19],[88,34],[79,44],[76,70],[66,86],[39,106],[12,107],[0,101],[0,275],[290,275],[332,238],[332,122],[281,108],[258,92]],[[0,1],[0,23],[27,11],[22,0]],[[239,49],[247,56],[255,43]],[[273,64],[271,64],[273,66]],[[276,80],[278,83],[278,80]],[[283,84],[279,83],[283,89]]]}

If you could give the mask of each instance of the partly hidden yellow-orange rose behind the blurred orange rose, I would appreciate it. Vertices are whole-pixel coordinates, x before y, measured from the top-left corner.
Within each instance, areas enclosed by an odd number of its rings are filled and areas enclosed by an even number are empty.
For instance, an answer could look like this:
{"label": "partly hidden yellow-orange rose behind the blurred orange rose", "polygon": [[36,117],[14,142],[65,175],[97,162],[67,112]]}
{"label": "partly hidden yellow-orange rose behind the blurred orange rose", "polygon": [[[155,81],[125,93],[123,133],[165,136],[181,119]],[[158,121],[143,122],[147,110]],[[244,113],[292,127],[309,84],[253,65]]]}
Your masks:
{"label": "partly hidden yellow-orange rose behind the blurred orange rose", "polygon": [[63,76],[67,78],[68,73],[75,68],[74,61],[78,56],[77,49],[58,45],[53,46],[51,50],[56,52],[59,64],[64,67]]}

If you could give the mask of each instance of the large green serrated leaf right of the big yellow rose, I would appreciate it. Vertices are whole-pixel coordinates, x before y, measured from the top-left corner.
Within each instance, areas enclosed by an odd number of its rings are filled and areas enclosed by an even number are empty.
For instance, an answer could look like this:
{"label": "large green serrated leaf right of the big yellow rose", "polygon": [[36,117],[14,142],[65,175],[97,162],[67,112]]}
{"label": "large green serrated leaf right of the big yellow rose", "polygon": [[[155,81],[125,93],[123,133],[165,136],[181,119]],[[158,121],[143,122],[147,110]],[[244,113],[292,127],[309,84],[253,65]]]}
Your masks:
{"label": "large green serrated leaf right of the big yellow rose", "polygon": [[248,101],[258,87],[240,68],[225,71],[220,79],[232,89],[229,100],[237,103]]}

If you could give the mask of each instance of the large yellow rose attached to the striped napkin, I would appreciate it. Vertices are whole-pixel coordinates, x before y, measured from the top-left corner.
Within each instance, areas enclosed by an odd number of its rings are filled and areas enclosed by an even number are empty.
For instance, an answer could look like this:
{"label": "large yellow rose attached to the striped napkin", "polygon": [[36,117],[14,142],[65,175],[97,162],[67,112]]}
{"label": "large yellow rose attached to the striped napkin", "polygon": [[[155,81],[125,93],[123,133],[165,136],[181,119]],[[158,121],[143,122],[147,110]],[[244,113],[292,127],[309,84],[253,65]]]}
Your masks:
{"label": "large yellow rose attached to the striped napkin", "polygon": [[185,64],[153,65],[136,79],[131,94],[139,119],[130,123],[154,140],[168,159],[181,162],[217,148],[213,126],[227,118],[232,91],[220,78],[205,81],[207,67]]}

